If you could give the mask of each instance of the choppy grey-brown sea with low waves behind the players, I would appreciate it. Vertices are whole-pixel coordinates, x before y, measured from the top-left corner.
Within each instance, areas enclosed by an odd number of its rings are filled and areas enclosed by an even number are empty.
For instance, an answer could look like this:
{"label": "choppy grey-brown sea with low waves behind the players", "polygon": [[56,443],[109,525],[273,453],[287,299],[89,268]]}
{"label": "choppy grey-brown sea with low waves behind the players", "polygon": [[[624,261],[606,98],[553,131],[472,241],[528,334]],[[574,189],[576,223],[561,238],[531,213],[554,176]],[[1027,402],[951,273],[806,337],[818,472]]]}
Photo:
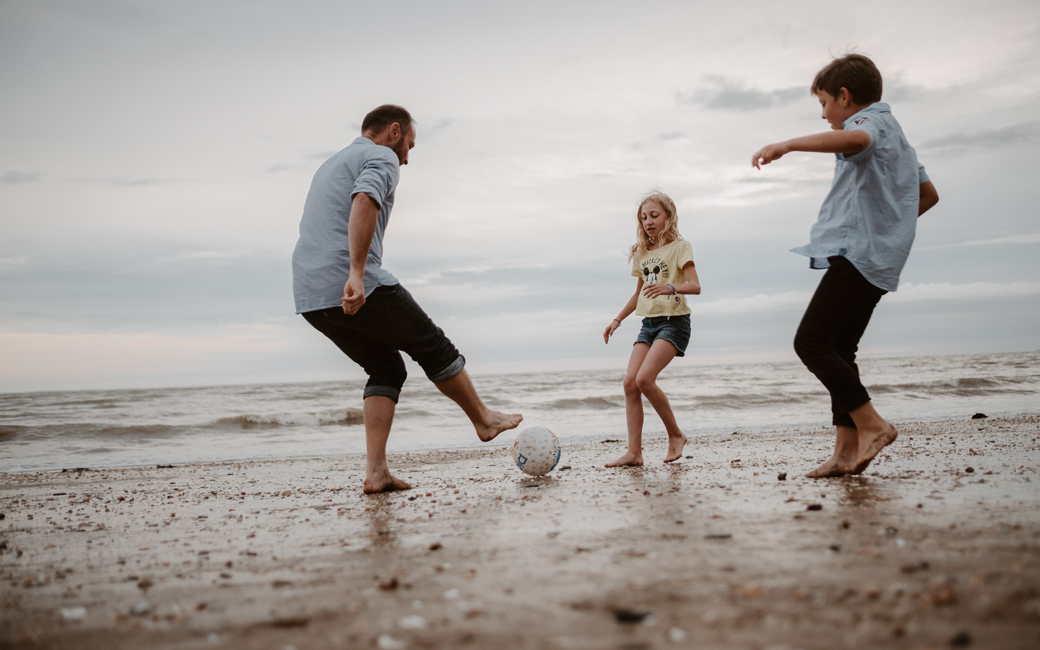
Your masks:
{"label": "choppy grey-brown sea with low waves behind the players", "polygon": [[[865,358],[860,374],[889,420],[1040,413],[1040,350]],[[522,413],[568,441],[625,434],[624,369],[474,375],[485,402]],[[798,362],[694,365],[658,378],[694,440],[826,427],[830,400]],[[0,472],[361,454],[364,381],[0,394]],[[648,404],[645,437],[664,436]],[[491,444],[510,444],[511,433]],[[410,378],[388,450],[484,446],[466,417],[424,378]],[[620,445],[619,445],[620,448]]]}

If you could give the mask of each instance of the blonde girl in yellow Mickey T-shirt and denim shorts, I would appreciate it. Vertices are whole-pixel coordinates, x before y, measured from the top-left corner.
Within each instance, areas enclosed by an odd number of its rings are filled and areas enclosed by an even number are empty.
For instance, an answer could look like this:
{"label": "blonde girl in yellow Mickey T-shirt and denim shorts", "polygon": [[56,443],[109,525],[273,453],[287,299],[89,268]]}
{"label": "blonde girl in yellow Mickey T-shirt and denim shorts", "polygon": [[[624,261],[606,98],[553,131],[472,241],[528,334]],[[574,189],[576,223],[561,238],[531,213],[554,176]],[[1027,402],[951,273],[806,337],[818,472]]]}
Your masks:
{"label": "blonde girl in yellow Mickey T-shirt and denim shorts", "polygon": [[[675,203],[668,194],[652,190],[635,210],[636,240],[629,251],[635,293],[603,330],[607,343],[621,321],[633,311],[643,316],[625,371],[625,420],[628,450],[607,467],[643,464],[643,395],[660,416],[668,432],[666,463],[682,458],[686,436],[675,422],[668,397],[657,387],[657,374],[675,357],[682,357],[690,342],[690,308],[684,294],[698,295],[701,283],[694,266],[694,251],[679,234]],[[679,284],[676,284],[679,283]]]}

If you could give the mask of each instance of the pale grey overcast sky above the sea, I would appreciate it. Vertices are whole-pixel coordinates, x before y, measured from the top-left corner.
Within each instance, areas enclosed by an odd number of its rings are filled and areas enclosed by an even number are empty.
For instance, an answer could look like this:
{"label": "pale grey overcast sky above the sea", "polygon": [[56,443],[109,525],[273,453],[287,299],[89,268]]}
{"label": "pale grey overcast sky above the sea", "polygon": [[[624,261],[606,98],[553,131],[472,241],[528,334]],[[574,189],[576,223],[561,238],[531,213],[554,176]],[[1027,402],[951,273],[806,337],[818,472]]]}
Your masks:
{"label": "pale grey overcast sky above the sea", "polygon": [[[293,314],[311,177],[418,121],[384,265],[471,372],[623,368],[636,197],[703,293],[681,363],[795,360],[831,54],[874,58],[940,203],[861,352],[1040,347],[1035,2],[0,4],[0,391],[359,378]],[[414,368],[414,366],[413,366]],[[413,374],[420,373],[414,369]]]}

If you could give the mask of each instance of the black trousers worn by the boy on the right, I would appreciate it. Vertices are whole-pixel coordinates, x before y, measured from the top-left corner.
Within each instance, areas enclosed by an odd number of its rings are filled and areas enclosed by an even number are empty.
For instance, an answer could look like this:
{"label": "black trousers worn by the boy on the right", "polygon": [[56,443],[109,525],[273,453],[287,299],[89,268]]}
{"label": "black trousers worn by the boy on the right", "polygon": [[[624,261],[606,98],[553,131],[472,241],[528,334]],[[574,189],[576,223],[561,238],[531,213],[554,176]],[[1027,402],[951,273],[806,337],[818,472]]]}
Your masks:
{"label": "black trousers worn by the boy on the right", "polygon": [[881,296],[887,293],[869,282],[843,257],[829,257],[809,307],[795,335],[795,352],[831,393],[832,422],[855,427],[849,412],[870,400],[859,381],[856,350]]}

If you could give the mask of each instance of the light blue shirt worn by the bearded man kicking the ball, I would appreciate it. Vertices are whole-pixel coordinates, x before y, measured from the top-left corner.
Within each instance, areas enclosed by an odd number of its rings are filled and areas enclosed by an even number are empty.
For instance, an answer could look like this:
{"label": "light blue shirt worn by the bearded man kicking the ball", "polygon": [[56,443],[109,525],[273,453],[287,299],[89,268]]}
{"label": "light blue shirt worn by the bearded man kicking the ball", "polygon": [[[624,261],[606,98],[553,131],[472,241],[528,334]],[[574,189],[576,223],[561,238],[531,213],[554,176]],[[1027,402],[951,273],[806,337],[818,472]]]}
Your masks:
{"label": "light blue shirt worn by the bearded man kicking the ball", "polygon": [[343,285],[350,275],[350,203],[359,192],[368,194],[380,206],[365,260],[365,296],[376,287],[397,284],[397,279],[383,268],[383,235],[399,177],[397,154],[367,137],[355,139],[318,167],[307,192],[300,239],[292,252],[292,293],[297,314],[342,305]]}

